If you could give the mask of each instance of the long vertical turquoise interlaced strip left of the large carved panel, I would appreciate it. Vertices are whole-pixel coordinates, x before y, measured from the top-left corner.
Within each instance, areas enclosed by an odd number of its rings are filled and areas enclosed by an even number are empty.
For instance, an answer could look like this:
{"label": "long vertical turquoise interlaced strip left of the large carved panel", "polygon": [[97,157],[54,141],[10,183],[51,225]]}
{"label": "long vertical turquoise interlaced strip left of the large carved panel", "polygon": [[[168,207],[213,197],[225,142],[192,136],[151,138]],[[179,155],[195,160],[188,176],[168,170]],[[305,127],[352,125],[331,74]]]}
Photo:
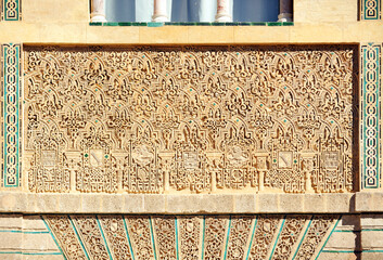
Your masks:
{"label": "long vertical turquoise interlaced strip left of the large carved panel", "polygon": [[20,186],[20,44],[3,44],[3,185]]}

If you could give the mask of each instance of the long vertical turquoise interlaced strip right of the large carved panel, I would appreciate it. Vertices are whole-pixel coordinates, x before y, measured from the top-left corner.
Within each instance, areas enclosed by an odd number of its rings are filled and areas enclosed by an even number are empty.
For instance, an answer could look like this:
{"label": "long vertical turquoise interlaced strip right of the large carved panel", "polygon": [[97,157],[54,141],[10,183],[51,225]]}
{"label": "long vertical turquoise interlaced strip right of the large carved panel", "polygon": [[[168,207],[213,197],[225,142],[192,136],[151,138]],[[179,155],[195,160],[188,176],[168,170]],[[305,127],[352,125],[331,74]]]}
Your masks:
{"label": "long vertical turquoise interlaced strip right of the large carved panel", "polygon": [[361,46],[361,188],[379,188],[381,174],[381,49]]}

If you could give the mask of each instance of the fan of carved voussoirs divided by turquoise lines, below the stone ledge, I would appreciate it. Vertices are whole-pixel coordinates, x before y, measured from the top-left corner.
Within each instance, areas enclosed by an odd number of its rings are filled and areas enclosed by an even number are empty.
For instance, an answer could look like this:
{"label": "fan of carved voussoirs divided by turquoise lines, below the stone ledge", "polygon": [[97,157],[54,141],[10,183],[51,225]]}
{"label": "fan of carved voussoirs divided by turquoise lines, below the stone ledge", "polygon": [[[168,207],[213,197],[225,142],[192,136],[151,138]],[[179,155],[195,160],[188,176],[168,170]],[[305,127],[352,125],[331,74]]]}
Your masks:
{"label": "fan of carved voussoirs divided by turquoise lines, below the stone ledge", "polygon": [[340,216],[43,216],[66,259],[314,259]]}

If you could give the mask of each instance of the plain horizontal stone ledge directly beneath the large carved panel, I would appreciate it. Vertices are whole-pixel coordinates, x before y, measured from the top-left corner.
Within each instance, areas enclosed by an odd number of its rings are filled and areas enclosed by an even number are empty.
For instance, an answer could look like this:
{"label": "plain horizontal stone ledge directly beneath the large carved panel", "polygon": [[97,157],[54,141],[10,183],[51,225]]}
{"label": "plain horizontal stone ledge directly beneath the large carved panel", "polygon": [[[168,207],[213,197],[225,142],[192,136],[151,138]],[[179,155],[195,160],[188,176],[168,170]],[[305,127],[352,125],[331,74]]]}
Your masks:
{"label": "plain horizontal stone ledge directly beneath the large carved panel", "polygon": [[356,213],[383,212],[383,193],[31,194],[0,193],[0,212],[21,213]]}

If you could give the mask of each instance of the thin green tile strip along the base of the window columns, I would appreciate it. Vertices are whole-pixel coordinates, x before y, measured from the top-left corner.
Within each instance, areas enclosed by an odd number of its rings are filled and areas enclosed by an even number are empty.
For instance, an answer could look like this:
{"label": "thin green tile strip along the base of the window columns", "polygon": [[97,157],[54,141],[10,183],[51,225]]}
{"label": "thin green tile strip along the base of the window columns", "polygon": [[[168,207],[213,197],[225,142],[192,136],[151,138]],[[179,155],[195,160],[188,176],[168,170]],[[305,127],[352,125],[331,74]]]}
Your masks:
{"label": "thin green tile strip along the base of the window columns", "polygon": [[143,27],[162,27],[162,26],[293,26],[294,22],[231,22],[231,23],[137,23],[137,22],[106,22],[106,23],[89,23],[90,26],[143,26]]}

